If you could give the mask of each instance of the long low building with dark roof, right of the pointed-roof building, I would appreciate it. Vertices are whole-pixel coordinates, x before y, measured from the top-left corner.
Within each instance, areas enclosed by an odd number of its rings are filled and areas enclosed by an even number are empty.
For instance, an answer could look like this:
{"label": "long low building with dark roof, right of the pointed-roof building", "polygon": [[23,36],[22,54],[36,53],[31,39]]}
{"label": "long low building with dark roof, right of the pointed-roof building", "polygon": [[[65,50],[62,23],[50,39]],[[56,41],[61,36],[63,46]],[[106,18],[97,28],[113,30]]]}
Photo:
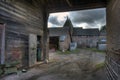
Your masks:
{"label": "long low building with dark roof, right of the pointed-roof building", "polygon": [[97,47],[99,30],[74,28],[72,39],[74,42],[77,42],[78,47]]}

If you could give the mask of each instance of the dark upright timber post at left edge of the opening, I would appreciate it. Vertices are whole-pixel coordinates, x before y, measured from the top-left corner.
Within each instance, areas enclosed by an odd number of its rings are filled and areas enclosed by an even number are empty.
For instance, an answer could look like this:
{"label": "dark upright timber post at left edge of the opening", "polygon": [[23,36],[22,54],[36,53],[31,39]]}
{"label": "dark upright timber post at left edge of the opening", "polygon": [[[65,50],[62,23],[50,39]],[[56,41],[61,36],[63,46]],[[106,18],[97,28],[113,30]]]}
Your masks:
{"label": "dark upright timber post at left edge of the opening", "polygon": [[48,36],[48,10],[47,10],[47,2],[44,1],[43,4],[43,60],[45,63],[48,63],[49,60],[49,36]]}

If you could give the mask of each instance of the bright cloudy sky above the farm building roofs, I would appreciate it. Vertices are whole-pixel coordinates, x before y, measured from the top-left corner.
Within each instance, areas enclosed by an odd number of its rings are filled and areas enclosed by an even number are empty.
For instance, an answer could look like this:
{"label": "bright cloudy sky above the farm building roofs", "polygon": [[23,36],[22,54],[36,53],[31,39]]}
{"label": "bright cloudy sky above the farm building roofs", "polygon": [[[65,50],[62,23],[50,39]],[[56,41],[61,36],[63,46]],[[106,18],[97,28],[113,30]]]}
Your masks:
{"label": "bright cloudy sky above the farm building roofs", "polygon": [[101,28],[106,25],[106,9],[90,9],[72,12],[51,13],[48,19],[48,27],[62,27],[67,16],[74,27]]}

